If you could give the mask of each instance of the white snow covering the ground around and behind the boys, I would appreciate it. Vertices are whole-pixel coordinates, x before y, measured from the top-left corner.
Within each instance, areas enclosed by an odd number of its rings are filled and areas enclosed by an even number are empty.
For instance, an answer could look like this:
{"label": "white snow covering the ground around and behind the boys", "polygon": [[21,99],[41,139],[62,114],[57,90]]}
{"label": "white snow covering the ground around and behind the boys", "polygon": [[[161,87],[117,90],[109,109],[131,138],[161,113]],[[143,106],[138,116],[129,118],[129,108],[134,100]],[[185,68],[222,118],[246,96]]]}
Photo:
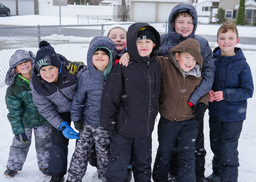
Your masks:
{"label": "white snow covering the ground around and behind the boys", "polygon": [[[16,17],[16,19],[14,19]],[[21,17],[21,19],[19,19]],[[13,19],[12,19],[13,18]],[[70,18],[71,20],[68,20],[69,18],[62,17],[62,24],[75,24],[74,22],[77,22],[75,18]],[[95,20],[95,23],[97,23],[97,20]],[[110,23],[110,22],[107,22]],[[113,23],[113,22],[112,22]],[[39,15],[27,15],[27,16],[12,16],[12,17],[0,17],[0,24],[6,24],[6,25],[26,25],[26,26],[36,26],[38,24],[40,25],[58,25],[59,24],[59,18],[58,17],[42,17]],[[201,26],[201,25],[199,25]],[[197,27],[197,30],[201,29],[200,27]],[[207,27],[207,25],[204,27],[207,30],[206,35],[216,35],[217,30],[219,26],[216,25],[214,28],[211,26],[211,29]],[[238,30],[239,31],[239,30]],[[252,31],[255,32],[255,31]],[[243,31],[239,32],[239,36],[243,33]],[[255,37],[255,33],[253,33],[253,37]],[[0,35],[1,36],[1,35]],[[51,41],[52,37],[47,36],[44,37],[45,39],[49,39]],[[63,40],[69,40],[69,37],[62,37]],[[42,40],[42,38],[41,38]],[[84,61],[87,54],[88,44],[83,43],[83,40],[81,37],[79,39],[79,44],[65,44],[66,49],[70,49],[69,54],[65,54],[65,56],[72,57],[73,54],[75,54],[75,51],[79,52],[85,52],[85,56],[81,57],[81,61]],[[86,39],[87,41],[87,39]],[[90,41],[88,39],[88,41]],[[216,43],[209,43],[212,45],[212,47],[216,47]],[[54,48],[56,50],[59,49],[58,46],[62,45],[54,45]],[[238,47],[242,47],[244,45],[238,44]],[[251,46],[251,45],[250,45]],[[75,49],[74,49],[75,47]],[[31,47],[23,47],[22,49],[25,50],[32,50],[36,53],[38,48],[31,48]],[[61,54],[61,49],[58,53]],[[15,50],[2,50],[0,51],[0,59],[1,60],[9,60],[10,57],[6,56],[6,52],[11,51],[15,52]],[[256,51],[244,51],[245,57],[251,67],[253,78],[256,79],[256,62],[255,62],[255,54]],[[86,61],[84,61],[86,62]],[[0,72],[4,70],[1,66]],[[4,71],[5,72],[5,71]],[[5,105],[5,92],[6,92],[7,86],[3,86],[0,88],[0,116],[2,116],[2,132],[1,132],[1,147],[0,147],[0,182],[43,182],[45,179],[47,179],[48,176],[45,176],[42,174],[42,172],[39,171],[38,165],[37,165],[37,159],[36,159],[36,152],[35,152],[35,142],[32,138],[32,144],[30,147],[30,151],[28,153],[27,160],[23,166],[22,171],[18,172],[14,178],[7,178],[4,176],[4,171],[6,170],[6,164],[8,160],[8,153],[9,153],[9,147],[11,146],[11,142],[13,139],[13,133],[11,130],[10,123],[8,122],[8,119],[6,115],[8,114],[8,109],[6,109]],[[239,151],[239,182],[253,182],[255,181],[256,176],[256,157],[255,157],[255,151],[256,151],[256,125],[255,125],[255,118],[256,118],[256,112],[255,112],[255,103],[256,103],[256,97],[248,99],[248,108],[247,108],[247,119],[244,121],[243,124],[243,130],[239,139],[239,145],[238,145],[238,151]],[[207,151],[206,155],[206,164],[205,164],[205,176],[208,176],[212,172],[212,151],[210,149],[209,144],[209,124],[208,124],[208,112],[205,113],[205,149]],[[158,142],[157,142],[157,124],[158,124],[159,116],[157,116],[157,122],[155,123],[155,130],[152,134],[152,167],[154,164],[154,159],[157,152]],[[72,153],[75,149],[75,140],[70,140],[69,142],[69,153],[68,153],[68,161],[71,160]],[[83,178],[83,182],[91,181],[91,182],[100,182],[100,180],[95,177],[93,178],[94,174],[96,172],[96,168],[88,165],[87,172],[85,174],[85,177]],[[67,174],[65,175],[65,181],[67,179]],[[132,182],[134,179],[132,179]]]}

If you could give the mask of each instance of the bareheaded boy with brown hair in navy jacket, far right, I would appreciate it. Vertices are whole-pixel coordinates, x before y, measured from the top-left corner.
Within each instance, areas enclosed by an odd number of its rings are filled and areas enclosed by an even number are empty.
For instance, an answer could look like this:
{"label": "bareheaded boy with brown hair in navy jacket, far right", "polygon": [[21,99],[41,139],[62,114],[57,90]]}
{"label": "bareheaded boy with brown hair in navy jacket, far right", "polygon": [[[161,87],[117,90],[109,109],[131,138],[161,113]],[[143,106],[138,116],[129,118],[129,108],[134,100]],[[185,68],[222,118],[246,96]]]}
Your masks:
{"label": "bareheaded boy with brown hair in navy jacket, far right", "polygon": [[247,99],[252,97],[250,66],[239,43],[233,23],[218,30],[219,47],[213,51],[216,73],[209,96],[210,144],[214,153],[209,182],[238,181],[238,139],[246,117]]}

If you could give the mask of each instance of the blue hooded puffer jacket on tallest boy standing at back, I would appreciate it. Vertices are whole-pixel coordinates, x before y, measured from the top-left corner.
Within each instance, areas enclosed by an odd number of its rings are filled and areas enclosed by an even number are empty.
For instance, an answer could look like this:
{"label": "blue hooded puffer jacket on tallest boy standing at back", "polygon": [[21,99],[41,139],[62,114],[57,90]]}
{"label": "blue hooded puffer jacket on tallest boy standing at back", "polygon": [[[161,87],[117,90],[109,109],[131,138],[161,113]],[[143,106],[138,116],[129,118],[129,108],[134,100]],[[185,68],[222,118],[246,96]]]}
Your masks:
{"label": "blue hooded puffer jacket on tallest boy standing at back", "polygon": [[[172,26],[173,16],[183,11],[189,11],[190,15],[194,17],[194,30],[189,36],[185,38],[182,38],[182,34],[176,33]],[[195,106],[197,105],[198,100],[206,93],[208,93],[212,88],[214,72],[216,69],[212,59],[212,49],[205,38],[195,35],[196,28],[197,12],[195,7],[189,3],[178,4],[171,10],[171,14],[169,16],[168,33],[161,35],[161,47],[158,53],[159,56],[168,57],[169,50],[178,45],[181,41],[188,38],[194,38],[197,40],[200,45],[201,56],[203,58],[203,67],[201,72],[203,79],[198,88],[195,89],[195,91],[193,91],[193,93],[190,95],[189,102],[193,103]]]}

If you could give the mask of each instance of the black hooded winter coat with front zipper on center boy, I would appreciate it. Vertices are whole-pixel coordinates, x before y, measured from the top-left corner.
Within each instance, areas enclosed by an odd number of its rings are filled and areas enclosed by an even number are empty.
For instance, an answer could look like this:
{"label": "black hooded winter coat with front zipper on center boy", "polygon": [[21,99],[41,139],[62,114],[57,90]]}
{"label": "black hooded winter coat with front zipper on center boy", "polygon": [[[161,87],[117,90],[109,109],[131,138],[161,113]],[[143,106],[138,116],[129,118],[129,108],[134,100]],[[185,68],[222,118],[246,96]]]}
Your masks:
{"label": "black hooded winter coat with front zipper on center boy", "polygon": [[[136,46],[138,31],[149,27],[156,37],[150,57],[140,57]],[[132,24],[127,32],[129,66],[116,64],[102,93],[100,124],[105,130],[125,137],[150,136],[158,114],[161,67],[155,59],[160,35],[147,23]]]}

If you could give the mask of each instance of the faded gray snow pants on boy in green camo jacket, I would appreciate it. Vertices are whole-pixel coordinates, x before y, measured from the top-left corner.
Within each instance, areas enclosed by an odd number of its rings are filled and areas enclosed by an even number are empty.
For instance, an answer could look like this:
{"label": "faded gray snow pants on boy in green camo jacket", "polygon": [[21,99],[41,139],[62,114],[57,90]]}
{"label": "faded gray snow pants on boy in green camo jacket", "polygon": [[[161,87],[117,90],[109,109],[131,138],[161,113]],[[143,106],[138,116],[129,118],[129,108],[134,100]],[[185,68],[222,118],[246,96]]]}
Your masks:
{"label": "faded gray snow pants on boy in green camo jacket", "polygon": [[37,153],[37,164],[41,168],[48,168],[49,147],[51,128],[50,124],[37,127],[25,126],[25,134],[28,137],[28,143],[23,144],[13,137],[13,143],[10,147],[7,168],[14,171],[21,171],[23,164],[27,158],[28,150],[31,145],[32,130],[35,134],[35,148]]}

